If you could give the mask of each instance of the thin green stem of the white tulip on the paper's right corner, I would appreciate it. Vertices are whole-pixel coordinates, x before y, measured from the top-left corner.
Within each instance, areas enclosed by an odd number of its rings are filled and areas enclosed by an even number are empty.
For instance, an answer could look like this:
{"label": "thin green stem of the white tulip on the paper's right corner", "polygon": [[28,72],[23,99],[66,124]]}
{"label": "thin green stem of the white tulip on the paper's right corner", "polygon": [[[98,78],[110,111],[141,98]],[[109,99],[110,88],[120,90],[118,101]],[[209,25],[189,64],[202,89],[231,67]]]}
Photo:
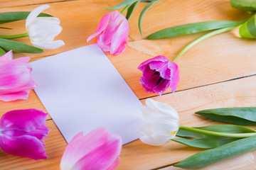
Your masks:
{"label": "thin green stem of the white tulip on the paper's right corner", "polygon": [[191,132],[197,132],[197,133],[201,133],[204,135],[212,135],[212,136],[217,136],[217,137],[250,137],[253,135],[256,135],[256,132],[250,132],[250,133],[223,133],[223,132],[213,132],[213,131],[208,131],[208,130],[201,130],[201,129],[197,129],[197,128],[189,128],[186,126],[179,126],[179,129],[181,130],[187,130],[187,131],[191,131]]}

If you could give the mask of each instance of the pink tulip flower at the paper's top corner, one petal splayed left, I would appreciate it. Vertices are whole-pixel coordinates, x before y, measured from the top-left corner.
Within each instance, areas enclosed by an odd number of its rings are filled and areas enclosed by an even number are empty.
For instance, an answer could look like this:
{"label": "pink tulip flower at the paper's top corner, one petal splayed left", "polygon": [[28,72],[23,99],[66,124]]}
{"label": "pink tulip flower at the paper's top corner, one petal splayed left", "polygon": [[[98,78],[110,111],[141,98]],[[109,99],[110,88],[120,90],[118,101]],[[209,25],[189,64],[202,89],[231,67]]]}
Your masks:
{"label": "pink tulip flower at the paper's top corner, one petal splayed left", "polygon": [[104,52],[110,52],[112,55],[119,55],[124,52],[125,44],[128,43],[129,23],[127,19],[114,11],[107,13],[100,20],[95,34],[87,38],[87,42],[97,37],[97,45]]}

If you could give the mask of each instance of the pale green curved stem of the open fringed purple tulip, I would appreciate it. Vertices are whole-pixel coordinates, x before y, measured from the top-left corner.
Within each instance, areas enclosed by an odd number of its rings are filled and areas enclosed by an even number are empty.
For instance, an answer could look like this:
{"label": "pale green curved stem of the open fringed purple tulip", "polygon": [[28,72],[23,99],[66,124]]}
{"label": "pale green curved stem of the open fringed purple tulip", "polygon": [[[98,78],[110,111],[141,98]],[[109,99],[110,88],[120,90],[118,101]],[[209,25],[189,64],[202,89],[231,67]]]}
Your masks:
{"label": "pale green curved stem of the open fringed purple tulip", "polygon": [[176,60],[178,60],[179,57],[181,57],[181,55],[183,55],[187,50],[189,50],[191,47],[193,47],[193,45],[198,44],[198,42],[201,42],[202,40],[206,40],[207,38],[213,37],[214,35],[218,35],[220,33],[225,33],[228,32],[229,30],[233,30],[235,28],[237,28],[238,26],[233,26],[233,27],[227,27],[227,28],[221,28],[218,30],[213,30],[210,33],[207,33],[203,36],[201,36],[200,38],[193,40],[191,43],[189,43],[188,45],[186,45],[186,47],[184,47],[181,52],[178,52],[178,55],[176,55],[176,57],[174,57],[174,59],[172,60],[172,62],[176,62]]}

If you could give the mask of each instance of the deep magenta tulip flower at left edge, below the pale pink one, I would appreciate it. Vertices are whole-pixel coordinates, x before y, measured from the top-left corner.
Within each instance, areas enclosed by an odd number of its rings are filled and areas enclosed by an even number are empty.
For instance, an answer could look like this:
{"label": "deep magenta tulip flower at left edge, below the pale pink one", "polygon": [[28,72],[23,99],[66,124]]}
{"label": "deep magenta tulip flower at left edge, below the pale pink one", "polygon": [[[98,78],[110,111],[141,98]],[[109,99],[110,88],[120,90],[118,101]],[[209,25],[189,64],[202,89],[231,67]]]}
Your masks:
{"label": "deep magenta tulip flower at left edge, below the pale pink one", "polygon": [[36,109],[9,111],[0,119],[0,147],[8,154],[47,159],[43,139],[49,132],[46,113]]}

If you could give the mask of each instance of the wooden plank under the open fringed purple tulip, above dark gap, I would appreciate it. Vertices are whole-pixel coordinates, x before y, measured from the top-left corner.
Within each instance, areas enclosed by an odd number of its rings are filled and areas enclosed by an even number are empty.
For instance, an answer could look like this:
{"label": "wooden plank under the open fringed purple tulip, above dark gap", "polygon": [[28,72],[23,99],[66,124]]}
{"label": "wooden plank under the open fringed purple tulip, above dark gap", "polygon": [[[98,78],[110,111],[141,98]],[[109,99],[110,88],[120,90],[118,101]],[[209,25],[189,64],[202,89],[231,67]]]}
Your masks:
{"label": "wooden plank under the open fringed purple tulip, above dark gap", "polygon": [[[194,37],[192,35],[189,38]],[[164,43],[150,40],[130,42],[126,52],[109,59],[138,98],[156,96],[145,93],[139,84],[142,72],[137,67],[156,55],[172,59],[187,40],[177,38],[172,42],[173,45],[167,40]],[[231,33],[218,35],[198,44],[177,61],[181,76],[177,91],[256,74],[254,46],[254,41],[233,38]],[[167,90],[165,93],[170,92],[171,90]]]}

